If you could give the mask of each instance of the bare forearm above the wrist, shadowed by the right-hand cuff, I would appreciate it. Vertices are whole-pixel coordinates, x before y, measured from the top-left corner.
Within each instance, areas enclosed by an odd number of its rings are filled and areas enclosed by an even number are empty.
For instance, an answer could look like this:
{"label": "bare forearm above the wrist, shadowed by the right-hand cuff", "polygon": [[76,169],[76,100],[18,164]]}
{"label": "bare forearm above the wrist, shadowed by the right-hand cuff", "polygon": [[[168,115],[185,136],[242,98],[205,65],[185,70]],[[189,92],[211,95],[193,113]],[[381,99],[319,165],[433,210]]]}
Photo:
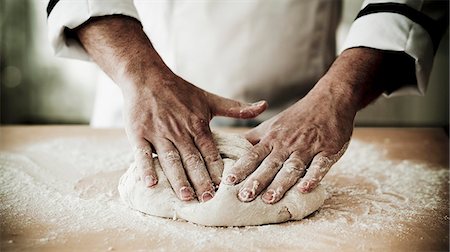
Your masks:
{"label": "bare forearm above the wrist, shadowed by the right-hand cuff", "polygon": [[[401,80],[397,79],[395,72],[405,68],[414,69],[410,65],[414,64],[411,60],[406,54],[398,52],[371,48],[347,49],[330,67],[318,84],[322,87],[318,88],[326,88],[337,102],[358,111],[383,92],[396,89]],[[414,78],[414,73],[410,78]]]}

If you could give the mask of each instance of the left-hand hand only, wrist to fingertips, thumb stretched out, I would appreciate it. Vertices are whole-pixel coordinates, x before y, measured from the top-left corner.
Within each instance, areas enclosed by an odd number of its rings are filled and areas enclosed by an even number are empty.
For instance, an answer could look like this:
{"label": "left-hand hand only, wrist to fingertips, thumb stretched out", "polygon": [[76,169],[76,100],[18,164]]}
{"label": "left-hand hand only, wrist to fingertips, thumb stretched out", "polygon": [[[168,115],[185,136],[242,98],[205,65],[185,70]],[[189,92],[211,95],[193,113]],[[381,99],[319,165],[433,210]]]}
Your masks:
{"label": "left-hand hand only, wrist to fingertips, thumb stretched out", "polygon": [[223,161],[209,122],[213,116],[253,118],[267,108],[208,93],[167,67],[149,71],[144,82],[123,85],[125,127],[135,147],[139,178],[157,186],[152,153],[181,200],[207,201],[221,181]]}

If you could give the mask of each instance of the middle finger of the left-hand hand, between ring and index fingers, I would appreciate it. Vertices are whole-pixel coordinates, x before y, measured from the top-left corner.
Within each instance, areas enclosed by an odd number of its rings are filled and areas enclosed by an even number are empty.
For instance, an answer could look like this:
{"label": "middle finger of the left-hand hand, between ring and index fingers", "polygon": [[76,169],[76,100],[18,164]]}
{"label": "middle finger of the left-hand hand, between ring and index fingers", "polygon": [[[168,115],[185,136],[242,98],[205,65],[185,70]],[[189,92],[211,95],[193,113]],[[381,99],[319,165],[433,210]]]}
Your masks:
{"label": "middle finger of the left-hand hand, between ring and index fingers", "polygon": [[200,202],[205,202],[214,197],[214,186],[209,173],[206,170],[200,152],[191,139],[185,139],[182,144],[176,145],[183,161],[186,175],[195,189]]}

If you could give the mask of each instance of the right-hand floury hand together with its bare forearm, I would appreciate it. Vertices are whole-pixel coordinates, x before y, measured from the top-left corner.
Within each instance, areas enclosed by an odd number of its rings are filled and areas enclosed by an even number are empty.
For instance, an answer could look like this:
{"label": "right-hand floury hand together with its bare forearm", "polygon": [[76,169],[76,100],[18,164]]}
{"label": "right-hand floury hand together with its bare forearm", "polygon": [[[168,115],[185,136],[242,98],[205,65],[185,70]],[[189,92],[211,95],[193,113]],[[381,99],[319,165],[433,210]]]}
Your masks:
{"label": "right-hand floury hand together with its bare forearm", "polygon": [[356,112],[384,90],[375,85],[383,53],[344,51],[328,73],[300,101],[249,131],[254,147],[224,174],[225,184],[244,181],[237,197],[248,202],[260,193],[278,202],[297,182],[311,192],[345,152]]}

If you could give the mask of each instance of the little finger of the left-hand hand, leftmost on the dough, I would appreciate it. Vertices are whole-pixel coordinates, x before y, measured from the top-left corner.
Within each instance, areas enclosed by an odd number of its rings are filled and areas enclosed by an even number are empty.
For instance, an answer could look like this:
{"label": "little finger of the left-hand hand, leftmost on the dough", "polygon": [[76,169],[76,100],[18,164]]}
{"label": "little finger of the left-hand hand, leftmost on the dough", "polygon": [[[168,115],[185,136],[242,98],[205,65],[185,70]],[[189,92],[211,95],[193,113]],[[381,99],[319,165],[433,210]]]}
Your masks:
{"label": "little finger of the left-hand hand, leftmost on the dough", "polygon": [[152,152],[152,147],[147,140],[139,139],[135,141],[134,160],[136,168],[139,178],[147,187],[153,187],[158,183]]}

